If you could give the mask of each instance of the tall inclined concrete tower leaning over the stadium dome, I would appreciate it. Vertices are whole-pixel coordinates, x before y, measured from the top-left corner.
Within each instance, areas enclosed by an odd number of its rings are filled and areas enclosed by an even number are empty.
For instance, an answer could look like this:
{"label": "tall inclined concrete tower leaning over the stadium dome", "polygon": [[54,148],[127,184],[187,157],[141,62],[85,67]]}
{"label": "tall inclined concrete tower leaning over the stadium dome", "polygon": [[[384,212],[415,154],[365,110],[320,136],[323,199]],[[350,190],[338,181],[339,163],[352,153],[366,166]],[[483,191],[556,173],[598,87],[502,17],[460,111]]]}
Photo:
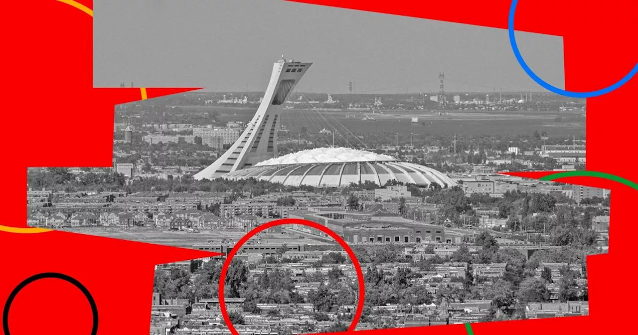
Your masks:
{"label": "tall inclined concrete tower leaning over the stadium dome", "polygon": [[218,160],[195,174],[195,179],[214,179],[276,157],[276,132],[281,123],[283,103],[311,65],[286,59],[274,63],[262,103],[246,130]]}

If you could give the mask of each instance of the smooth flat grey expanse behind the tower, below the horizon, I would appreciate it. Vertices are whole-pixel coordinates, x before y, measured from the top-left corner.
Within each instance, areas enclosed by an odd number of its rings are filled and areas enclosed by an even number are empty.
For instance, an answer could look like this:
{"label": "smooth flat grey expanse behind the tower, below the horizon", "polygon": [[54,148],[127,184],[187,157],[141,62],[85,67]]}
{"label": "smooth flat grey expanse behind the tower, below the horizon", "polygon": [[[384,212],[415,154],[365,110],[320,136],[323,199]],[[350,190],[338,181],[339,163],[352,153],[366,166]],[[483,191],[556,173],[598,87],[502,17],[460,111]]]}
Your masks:
{"label": "smooth flat grey expanse behind the tower, below the horizon", "polygon": [[[188,108],[188,107],[186,107]],[[254,108],[215,108],[222,123],[250,121]],[[474,110],[450,111],[448,115],[417,110],[385,110],[383,114],[370,114],[376,121],[362,121],[364,112],[358,110],[284,110],[281,124],[297,132],[306,127],[316,133],[323,128],[341,128],[343,124],[355,135],[369,133],[414,133],[415,135],[531,135],[534,131],[547,132],[550,137],[585,134],[585,117],[581,111],[503,111]],[[351,115],[351,117],[347,117]],[[354,116],[354,117],[352,117]],[[419,123],[410,119],[418,117]],[[557,121],[561,118],[561,121]]]}

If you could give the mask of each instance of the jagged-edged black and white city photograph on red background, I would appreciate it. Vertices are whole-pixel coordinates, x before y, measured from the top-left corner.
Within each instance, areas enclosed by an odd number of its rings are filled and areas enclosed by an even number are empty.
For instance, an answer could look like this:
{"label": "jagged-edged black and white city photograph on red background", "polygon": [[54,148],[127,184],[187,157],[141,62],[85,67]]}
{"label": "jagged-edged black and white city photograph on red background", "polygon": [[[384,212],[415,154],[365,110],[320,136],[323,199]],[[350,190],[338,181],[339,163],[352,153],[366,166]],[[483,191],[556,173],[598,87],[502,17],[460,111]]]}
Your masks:
{"label": "jagged-edged black and white city photograph on red background", "polygon": [[[506,30],[270,0],[94,11],[94,86],[201,89],[116,105],[112,167],[29,168],[29,226],[226,255],[313,221],[361,265],[357,330],[588,315],[610,192],[500,173],[584,170],[585,101],[538,86]],[[561,38],[516,36],[564,87]],[[348,329],[332,237],[282,225],[236,251],[240,334]],[[224,261],[158,265],[150,334],[231,334]]]}

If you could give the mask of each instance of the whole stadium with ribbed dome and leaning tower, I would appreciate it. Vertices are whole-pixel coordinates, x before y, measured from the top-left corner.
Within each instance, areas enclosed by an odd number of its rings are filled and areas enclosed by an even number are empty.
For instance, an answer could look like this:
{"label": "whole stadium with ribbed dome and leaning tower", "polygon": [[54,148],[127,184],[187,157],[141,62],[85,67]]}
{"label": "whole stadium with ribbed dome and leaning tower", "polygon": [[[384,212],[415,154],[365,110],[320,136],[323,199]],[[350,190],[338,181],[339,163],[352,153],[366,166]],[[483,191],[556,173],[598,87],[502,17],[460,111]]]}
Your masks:
{"label": "whole stadium with ribbed dome and leaning tower", "polygon": [[388,181],[451,187],[456,183],[433,168],[397,160],[385,154],[348,147],[319,147],[278,156],[277,130],[282,105],[312,63],[282,59],[274,63],[262,103],[246,130],[218,160],[195,179],[255,178],[290,186],[342,187],[366,181]]}

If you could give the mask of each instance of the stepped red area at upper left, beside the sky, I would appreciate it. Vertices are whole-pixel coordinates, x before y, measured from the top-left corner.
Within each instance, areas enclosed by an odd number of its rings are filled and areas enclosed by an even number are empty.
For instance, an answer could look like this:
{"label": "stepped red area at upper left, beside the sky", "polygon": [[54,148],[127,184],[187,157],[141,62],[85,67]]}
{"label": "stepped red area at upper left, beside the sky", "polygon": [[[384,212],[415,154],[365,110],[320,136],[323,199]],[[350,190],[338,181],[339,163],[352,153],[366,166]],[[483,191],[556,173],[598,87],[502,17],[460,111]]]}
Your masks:
{"label": "stepped red area at upper left, beside the sky", "polygon": [[[91,1],[80,1],[89,8]],[[93,18],[56,0],[10,1],[3,45],[0,225],[26,227],[28,167],[110,167],[115,104],[139,88],[93,88]],[[125,58],[122,59],[125,61]],[[149,88],[148,98],[198,88]]]}

